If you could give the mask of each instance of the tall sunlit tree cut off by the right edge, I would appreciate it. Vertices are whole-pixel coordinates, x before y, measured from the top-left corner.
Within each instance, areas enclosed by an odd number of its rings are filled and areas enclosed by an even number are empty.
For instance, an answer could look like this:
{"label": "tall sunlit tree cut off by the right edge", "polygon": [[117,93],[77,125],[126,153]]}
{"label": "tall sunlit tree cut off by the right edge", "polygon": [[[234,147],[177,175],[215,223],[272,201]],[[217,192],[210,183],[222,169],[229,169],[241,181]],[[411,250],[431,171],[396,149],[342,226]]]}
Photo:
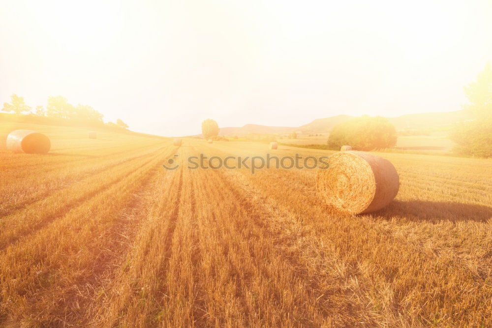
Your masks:
{"label": "tall sunlit tree cut off by the right edge", "polygon": [[450,135],[458,153],[492,157],[492,66],[487,63],[477,80],[464,88],[470,101],[464,109],[475,119],[457,124]]}

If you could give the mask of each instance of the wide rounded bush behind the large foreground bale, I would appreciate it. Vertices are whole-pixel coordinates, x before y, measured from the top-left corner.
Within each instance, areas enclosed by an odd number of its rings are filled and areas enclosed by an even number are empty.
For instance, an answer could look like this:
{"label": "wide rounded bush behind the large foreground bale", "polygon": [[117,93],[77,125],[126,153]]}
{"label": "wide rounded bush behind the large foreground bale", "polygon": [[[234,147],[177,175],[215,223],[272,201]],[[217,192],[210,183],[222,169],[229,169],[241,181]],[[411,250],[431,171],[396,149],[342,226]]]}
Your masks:
{"label": "wide rounded bush behind the large foreground bale", "polygon": [[339,149],[343,145],[356,150],[392,148],[397,143],[397,131],[387,119],[362,116],[336,125],[328,137],[328,146]]}

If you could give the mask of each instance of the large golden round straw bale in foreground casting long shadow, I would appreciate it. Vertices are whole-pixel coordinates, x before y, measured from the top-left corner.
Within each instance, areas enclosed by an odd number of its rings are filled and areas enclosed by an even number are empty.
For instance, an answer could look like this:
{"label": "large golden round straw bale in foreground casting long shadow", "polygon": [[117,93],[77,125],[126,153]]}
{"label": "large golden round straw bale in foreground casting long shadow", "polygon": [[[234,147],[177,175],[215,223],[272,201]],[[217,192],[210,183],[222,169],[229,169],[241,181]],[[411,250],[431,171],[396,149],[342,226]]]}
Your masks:
{"label": "large golden round straw bale in foreground casting long shadow", "polygon": [[363,151],[338,152],[319,170],[318,191],[334,208],[369,213],[384,208],[397,195],[398,173],[390,161]]}

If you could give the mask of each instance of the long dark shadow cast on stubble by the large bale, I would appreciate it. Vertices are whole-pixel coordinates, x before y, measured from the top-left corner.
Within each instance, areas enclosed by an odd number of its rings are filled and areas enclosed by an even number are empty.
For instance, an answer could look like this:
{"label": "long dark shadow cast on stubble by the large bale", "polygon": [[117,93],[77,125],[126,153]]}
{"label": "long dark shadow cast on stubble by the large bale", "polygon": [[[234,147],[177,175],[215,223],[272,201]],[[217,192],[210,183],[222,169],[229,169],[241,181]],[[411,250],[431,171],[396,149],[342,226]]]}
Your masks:
{"label": "long dark shadow cast on stubble by the large bale", "polygon": [[477,221],[492,218],[492,208],[484,205],[463,204],[457,202],[429,202],[421,200],[393,201],[385,209],[374,213],[390,219],[406,218],[412,221]]}

